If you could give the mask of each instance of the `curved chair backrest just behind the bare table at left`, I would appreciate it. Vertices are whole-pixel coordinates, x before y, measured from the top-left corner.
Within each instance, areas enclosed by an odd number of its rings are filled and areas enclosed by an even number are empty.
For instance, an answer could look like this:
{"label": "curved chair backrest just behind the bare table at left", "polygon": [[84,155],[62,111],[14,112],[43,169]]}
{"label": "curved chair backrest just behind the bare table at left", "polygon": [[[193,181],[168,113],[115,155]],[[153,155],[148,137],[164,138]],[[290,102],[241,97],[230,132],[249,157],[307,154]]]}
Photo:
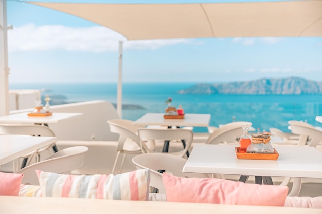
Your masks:
{"label": "curved chair backrest just behind the bare table at left", "polygon": [[0,124],[0,134],[23,134],[43,137],[55,137],[55,133],[47,126]]}

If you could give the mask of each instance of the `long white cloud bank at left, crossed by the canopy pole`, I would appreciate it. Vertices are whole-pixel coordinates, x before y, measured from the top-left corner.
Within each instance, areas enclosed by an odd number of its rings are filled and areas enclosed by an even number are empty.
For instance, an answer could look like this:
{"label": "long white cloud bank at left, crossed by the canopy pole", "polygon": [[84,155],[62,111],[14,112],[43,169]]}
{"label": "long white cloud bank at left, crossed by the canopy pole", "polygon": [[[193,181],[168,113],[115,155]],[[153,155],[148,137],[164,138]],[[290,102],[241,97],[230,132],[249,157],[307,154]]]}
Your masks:
{"label": "long white cloud bank at left, crossed by the canopy pole", "polygon": [[[23,51],[117,51],[118,41],[126,41],[121,34],[102,26],[66,27],[62,25],[35,26],[27,24],[8,31],[9,52]],[[157,49],[175,44],[198,44],[194,40],[127,41],[126,49]]]}

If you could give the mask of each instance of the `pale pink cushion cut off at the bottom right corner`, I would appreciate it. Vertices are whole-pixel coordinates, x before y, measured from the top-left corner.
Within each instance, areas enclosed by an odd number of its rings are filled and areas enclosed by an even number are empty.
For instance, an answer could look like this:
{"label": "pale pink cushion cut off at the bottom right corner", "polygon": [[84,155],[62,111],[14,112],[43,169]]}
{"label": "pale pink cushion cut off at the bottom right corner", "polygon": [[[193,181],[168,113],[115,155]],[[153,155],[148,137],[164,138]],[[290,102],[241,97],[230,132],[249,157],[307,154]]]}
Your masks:
{"label": "pale pink cushion cut off at the bottom right corner", "polygon": [[322,196],[288,196],[285,201],[285,207],[301,207],[322,209]]}

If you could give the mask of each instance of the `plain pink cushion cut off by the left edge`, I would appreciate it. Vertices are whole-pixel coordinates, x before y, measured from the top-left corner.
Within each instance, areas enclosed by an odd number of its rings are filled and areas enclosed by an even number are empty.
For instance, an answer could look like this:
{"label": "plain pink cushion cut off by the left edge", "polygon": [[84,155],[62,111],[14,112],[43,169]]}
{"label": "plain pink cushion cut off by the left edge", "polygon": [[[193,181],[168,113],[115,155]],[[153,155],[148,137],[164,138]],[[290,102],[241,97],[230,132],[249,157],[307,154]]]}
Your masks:
{"label": "plain pink cushion cut off by the left edge", "polygon": [[23,176],[23,174],[0,172],[0,195],[17,196]]}

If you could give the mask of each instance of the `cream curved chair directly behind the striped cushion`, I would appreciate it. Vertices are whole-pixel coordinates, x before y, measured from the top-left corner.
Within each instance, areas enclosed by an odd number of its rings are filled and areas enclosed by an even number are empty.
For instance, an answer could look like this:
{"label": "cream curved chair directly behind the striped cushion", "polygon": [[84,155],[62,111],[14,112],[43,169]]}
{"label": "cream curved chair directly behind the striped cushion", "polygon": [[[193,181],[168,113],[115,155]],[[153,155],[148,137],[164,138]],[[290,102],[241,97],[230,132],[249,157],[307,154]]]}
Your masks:
{"label": "cream curved chair directly behind the striped cushion", "polygon": [[48,159],[31,164],[16,173],[24,174],[22,184],[39,185],[35,170],[65,173],[78,169],[84,164],[86,146],[73,146],[52,154]]}

